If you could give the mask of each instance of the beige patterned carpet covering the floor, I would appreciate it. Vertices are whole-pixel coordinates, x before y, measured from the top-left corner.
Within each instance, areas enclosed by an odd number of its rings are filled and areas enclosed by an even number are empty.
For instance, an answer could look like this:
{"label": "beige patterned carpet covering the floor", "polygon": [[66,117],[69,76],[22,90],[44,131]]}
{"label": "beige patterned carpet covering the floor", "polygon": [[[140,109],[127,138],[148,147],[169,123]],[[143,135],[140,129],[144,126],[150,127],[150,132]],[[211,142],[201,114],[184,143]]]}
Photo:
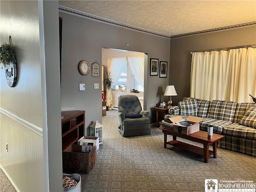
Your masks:
{"label": "beige patterned carpet covering the floor", "polygon": [[[124,138],[114,110],[102,117],[102,125],[103,144],[91,173],[81,174],[82,192],[204,192],[205,179],[256,182],[255,157],[218,148],[217,158],[206,164],[201,156],[169,145],[165,149],[158,128],[151,135]],[[15,192],[2,170],[0,191]]]}

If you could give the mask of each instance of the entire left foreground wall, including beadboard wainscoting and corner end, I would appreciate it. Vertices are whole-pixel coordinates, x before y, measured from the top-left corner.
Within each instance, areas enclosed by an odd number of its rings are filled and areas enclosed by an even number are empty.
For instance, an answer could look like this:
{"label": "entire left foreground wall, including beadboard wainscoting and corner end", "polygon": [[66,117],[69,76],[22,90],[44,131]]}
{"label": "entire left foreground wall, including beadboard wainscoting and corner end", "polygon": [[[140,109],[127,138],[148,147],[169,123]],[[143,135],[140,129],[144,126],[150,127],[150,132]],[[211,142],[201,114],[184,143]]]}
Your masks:
{"label": "entire left foreground wall, including beadboard wainscoting and corner end", "polygon": [[[0,141],[0,166],[7,164],[6,174],[21,191],[62,191],[58,1],[0,3],[0,43],[8,43],[11,35],[18,57],[14,88],[0,69],[0,112],[14,116],[0,114],[12,128],[6,131],[1,122],[0,135],[6,138]],[[5,142],[10,144],[8,154]]]}

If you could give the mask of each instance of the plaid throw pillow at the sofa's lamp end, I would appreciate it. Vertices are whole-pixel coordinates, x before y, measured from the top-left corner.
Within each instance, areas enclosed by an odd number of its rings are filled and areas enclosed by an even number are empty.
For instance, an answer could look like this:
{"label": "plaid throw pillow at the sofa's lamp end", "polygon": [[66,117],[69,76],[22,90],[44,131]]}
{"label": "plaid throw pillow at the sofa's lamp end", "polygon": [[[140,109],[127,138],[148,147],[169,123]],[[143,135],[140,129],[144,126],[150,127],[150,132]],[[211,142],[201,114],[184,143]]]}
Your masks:
{"label": "plaid throw pillow at the sofa's lamp end", "polygon": [[195,99],[178,102],[180,107],[180,115],[197,116],[197,102]]}

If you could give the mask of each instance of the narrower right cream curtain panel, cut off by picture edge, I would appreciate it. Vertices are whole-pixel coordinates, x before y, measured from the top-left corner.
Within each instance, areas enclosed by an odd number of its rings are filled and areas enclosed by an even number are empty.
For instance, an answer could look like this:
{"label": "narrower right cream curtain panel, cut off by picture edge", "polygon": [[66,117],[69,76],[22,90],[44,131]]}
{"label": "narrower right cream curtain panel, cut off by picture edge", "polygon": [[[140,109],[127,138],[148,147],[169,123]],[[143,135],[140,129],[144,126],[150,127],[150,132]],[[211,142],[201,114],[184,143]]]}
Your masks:
{"label": "narrower right cream curtain panel, cut off by picture edge", "polygon": [[256,96],[256,48],[239,49],[235,101],[252,102],[248,94]]}

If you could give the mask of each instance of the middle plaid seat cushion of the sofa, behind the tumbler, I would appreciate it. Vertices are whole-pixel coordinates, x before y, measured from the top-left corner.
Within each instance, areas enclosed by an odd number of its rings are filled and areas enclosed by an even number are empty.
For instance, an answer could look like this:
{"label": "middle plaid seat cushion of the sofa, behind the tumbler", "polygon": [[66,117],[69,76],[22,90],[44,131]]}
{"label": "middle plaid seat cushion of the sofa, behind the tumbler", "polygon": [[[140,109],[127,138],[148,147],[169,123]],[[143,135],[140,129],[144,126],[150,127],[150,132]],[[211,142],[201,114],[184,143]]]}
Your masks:
{"label": "middle plaid seat cushion of the sofa, behind the tumbler", "polygon": [[200,130],[207,131],[208,126],[213,127],[213,132],[217,134],[221,134],[224,127],[231,125],[233,122],[212,118],[204,118],[202,122],[200,122]]}

